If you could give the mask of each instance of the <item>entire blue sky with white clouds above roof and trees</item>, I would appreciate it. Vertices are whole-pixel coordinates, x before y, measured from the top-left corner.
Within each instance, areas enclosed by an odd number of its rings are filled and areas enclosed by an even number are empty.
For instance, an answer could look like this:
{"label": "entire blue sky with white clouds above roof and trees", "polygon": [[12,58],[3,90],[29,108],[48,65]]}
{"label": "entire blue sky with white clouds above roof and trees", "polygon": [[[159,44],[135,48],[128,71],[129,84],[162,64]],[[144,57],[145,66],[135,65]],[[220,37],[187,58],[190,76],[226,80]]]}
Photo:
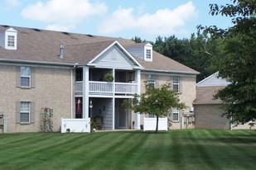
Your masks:
{"label": "entire blue sky with white clouds above roof and trees", "polygon": [[152,41],[189,38],[200,24],[232,26],[228,17],[210,16],[210,3],[230,0],[2,0],[0,25]]}

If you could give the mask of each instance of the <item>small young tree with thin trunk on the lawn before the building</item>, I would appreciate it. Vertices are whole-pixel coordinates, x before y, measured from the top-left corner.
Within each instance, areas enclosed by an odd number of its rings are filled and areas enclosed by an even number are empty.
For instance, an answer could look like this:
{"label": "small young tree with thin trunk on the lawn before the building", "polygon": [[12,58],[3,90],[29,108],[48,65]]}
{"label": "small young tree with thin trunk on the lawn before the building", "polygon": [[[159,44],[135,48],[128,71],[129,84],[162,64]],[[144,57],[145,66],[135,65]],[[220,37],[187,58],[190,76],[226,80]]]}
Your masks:
{"label": "small young tree with thin trunk on the lawn before the building", "polygon": [[146,83],[146,92],[134,95],[133,102],[128,100],[123,102],[123,106],[131,108],[140,114],[149,114],[157,116],[156,133],[158,132],[159,116],[167,116],[171,108],[182,109],[185,104],[180,102],[176,92],[171,90],[171,84],[165,83],[161,87],[155,88]]}

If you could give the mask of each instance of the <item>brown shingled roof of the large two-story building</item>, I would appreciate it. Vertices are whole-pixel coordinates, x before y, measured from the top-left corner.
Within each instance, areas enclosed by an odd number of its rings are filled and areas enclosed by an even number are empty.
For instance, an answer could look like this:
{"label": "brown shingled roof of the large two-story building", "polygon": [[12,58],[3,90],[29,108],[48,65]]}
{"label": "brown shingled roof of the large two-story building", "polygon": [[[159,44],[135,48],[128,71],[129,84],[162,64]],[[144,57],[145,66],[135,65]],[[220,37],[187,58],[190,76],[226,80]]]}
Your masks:
{"label": "brown shingled roof of the large two-story building", "polygon": [[[70,32],[46,31],[12,26],[17,33],[17,50],[5,50],[0,47],[1,60],[22,60],[36,62],[53,62],[60,64],[87,64],[97,54],[118,40],[123,47],[137,45],[132,40],[122,38],[84,35]],[[9,27],[0,26],[0,31]],[[60,44],[64,45],[64,58],[60,59]],[[142,44],[144,45],[144,44]],[[172,73],[198,74],[173,59],[153,51],[153,61],[148,62],[133,56],[145,70]]]}

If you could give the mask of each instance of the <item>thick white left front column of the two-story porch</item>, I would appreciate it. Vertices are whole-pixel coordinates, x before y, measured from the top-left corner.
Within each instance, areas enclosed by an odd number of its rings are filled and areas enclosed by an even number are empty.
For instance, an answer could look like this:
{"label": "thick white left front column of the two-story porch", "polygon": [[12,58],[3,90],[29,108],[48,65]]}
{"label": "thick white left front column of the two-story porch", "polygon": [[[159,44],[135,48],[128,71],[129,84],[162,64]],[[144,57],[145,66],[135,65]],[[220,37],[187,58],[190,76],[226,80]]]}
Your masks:
{"label": "thick white left front column of the two-story porch", "polygon": [[89,67],[83,67],[83,118],[89,118]]}

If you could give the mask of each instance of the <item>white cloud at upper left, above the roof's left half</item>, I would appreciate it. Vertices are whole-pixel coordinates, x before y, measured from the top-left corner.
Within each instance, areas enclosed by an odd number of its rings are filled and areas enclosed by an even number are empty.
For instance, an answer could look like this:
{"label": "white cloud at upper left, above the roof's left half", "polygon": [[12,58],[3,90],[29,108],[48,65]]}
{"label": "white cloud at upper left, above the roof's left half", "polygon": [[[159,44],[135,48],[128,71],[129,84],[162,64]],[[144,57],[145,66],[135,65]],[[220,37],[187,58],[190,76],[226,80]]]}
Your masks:
{"label": "white cloud at upper left, above the roof's left half", "polygon": [[[22,10],[22,17],[44,21],[49,28],[70,28],[90,16],[102,15],[107,7],[102,2],[88,0],[48,0],[36,2]],[[63,31],[63,30],[61,30]]]}

